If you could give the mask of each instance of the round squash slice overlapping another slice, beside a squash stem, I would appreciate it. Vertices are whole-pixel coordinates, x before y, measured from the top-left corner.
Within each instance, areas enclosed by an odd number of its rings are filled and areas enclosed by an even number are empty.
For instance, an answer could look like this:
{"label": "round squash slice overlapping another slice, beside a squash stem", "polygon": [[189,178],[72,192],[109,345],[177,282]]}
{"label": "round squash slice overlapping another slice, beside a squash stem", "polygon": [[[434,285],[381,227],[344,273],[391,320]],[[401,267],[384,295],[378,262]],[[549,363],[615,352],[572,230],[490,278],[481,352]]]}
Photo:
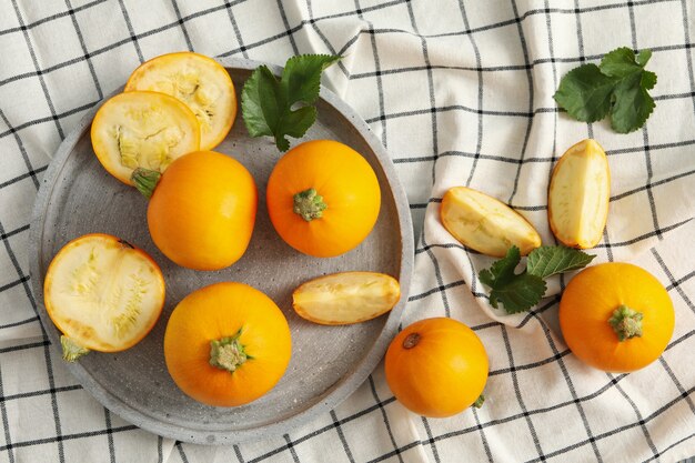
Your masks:
{"label": "round squash slice overlapping another slice, beside a squash stem", "polygon": [[111,98],[92,121],[92,148],[109,173],[127,184],[137,168],[163,172],[200,147],[195,115],[164,93],[128,92]]}

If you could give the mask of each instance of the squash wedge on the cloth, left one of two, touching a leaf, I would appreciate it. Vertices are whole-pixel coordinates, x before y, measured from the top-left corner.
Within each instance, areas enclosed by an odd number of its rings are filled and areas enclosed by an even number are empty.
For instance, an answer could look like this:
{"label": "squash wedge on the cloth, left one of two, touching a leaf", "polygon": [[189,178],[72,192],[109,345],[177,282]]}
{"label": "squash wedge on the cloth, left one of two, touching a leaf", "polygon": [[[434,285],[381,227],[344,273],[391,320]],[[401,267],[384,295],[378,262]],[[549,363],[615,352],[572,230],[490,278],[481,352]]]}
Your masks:
{"label": "squash wedge on the cloth, left one of two, touching a leaf", "polygon": [[465,187],[450,189],[442,199],[444,228],[463,245],[503,258],[515,245],[522,255],[541,245],[541,235],[521,214],[485,193]]}

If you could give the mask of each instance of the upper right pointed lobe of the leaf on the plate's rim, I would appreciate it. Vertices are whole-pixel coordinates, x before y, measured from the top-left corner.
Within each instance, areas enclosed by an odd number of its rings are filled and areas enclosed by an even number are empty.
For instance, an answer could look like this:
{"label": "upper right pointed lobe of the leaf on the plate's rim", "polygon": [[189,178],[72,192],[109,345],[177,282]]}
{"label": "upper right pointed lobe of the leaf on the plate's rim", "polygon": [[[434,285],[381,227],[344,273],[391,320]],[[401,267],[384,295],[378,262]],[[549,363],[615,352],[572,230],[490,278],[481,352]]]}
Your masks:
{"label": "upper right pointed lobe of the leaf on the plate's rim", "polygon": [[332,54],[301,54],[290,58],[281,80],[290,105],[300,101],[313,104],[319,99],[321,73],[340,59],[341,57]]}

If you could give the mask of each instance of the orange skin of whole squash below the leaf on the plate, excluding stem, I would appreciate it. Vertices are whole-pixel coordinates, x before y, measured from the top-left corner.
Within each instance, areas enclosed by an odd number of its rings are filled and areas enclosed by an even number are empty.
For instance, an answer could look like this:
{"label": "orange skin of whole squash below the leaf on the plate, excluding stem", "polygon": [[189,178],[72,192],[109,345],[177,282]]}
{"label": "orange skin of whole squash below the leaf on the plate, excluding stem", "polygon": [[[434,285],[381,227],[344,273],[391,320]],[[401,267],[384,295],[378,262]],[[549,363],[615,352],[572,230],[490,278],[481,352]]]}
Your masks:
{"label": "orange skin of whole squash below the leaf on the plate, excluding stem", "polygon": [[[315,189],[328,204],[306,221],[294,212],[294,195]],[[372,231],[381,189],[366,160],[332,140],[296,145],[278,161],[268,181],[268,212],[278,234],[295,250],[332,258],[356,248]]]}

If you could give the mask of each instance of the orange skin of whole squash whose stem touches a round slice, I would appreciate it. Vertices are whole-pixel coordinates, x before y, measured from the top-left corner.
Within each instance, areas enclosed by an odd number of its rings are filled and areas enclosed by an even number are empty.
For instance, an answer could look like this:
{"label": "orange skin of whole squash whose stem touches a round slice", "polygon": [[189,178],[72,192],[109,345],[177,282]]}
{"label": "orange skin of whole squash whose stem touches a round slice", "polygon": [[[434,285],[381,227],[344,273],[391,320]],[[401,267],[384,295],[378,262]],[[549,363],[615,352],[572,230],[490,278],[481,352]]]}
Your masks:
{"label": "orange skin of whole squash whose stem touches a round slice", "polygon": [[148,207],[152,241],[174,263],[220,270],[246,251],[258,207],[251,173],[234,159],[197,151],[169,165]]}

